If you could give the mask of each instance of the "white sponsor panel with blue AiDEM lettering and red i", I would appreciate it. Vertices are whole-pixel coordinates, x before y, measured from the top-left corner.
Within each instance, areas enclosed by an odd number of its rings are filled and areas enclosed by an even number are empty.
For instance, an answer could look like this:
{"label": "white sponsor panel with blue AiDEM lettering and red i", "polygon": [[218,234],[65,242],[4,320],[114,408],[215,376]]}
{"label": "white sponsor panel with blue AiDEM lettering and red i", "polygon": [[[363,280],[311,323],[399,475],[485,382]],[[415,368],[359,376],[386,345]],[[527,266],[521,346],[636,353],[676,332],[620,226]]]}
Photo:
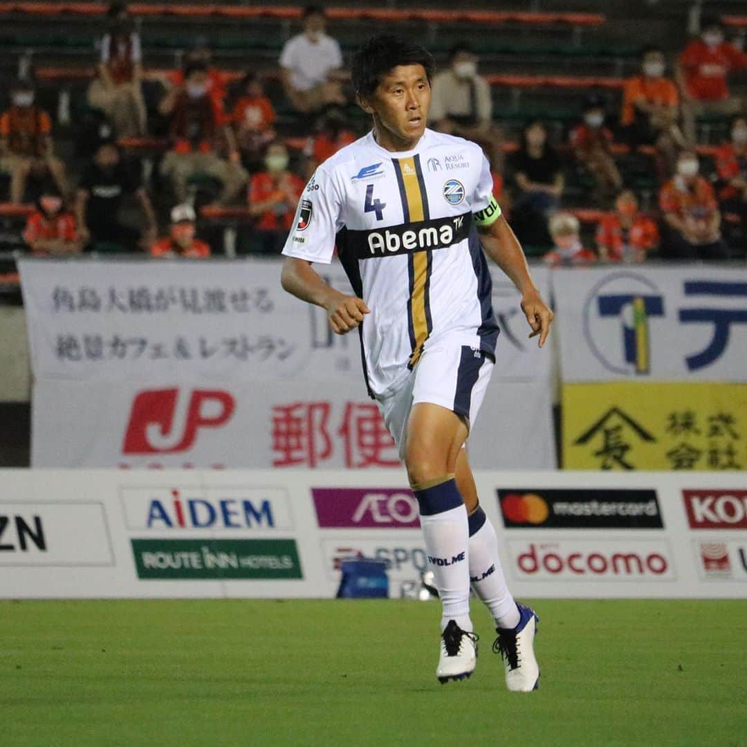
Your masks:
{"label": "white sponsor panel with blue AiDEM lettering and red i", "polygon": [[287,530],[291,504],[282,488],[229,486],[120,488],[131,530]]}

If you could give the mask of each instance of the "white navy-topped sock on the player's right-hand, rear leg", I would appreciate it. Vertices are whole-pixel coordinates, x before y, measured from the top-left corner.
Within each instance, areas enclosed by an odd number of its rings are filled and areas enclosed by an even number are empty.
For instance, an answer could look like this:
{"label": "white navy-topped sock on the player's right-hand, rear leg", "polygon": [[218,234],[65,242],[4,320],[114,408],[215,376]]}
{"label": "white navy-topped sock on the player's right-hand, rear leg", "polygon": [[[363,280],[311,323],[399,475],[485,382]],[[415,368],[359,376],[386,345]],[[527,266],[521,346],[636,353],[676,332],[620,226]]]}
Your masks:
{"label": "white navy-topped sock on the player's right-hand, rear leg", "polygon": [[520,616],[500,565],[498,537],[480,506],[469,516],[469,529],[468,555],[472,588],[487,605],[496,627],[516,627]]}

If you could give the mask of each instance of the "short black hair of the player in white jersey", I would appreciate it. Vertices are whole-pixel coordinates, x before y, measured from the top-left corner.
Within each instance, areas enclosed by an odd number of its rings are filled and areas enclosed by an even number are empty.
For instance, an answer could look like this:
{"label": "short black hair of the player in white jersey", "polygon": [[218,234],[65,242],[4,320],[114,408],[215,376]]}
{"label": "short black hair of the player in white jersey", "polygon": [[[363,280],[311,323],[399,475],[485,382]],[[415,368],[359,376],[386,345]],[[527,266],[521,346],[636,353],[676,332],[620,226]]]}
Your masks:
{"label": "short black hair of the player in white jersey", "polygon": [[424,46],[393,34],[377,34],[353,55],[353,90],[356,95],[371,96],[382,75],[397,65],[422,65],[429,81],[436,69],[433,56]]}

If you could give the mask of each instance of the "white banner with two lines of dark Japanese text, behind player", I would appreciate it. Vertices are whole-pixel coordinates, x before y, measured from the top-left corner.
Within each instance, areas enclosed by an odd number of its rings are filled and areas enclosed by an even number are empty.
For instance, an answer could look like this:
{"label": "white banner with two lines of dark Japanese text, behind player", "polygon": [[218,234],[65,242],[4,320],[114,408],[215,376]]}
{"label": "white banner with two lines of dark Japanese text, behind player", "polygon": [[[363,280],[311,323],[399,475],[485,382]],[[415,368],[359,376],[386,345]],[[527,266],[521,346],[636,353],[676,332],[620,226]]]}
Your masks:
{"label": "white banner with two lines of dark Japanese text, behind player", "polygon": [[[285,293],[278,261],[24,259],[19,268],[36,379],[362,380],[358,335],[334,335],[323,309]],[[317,270],[352,293],[339,264]],[[548,294],[548,270],[535,276]],[[494,378],[546,379],[551,356],[527,340],[518,292],[498,269],[493,298]]]}

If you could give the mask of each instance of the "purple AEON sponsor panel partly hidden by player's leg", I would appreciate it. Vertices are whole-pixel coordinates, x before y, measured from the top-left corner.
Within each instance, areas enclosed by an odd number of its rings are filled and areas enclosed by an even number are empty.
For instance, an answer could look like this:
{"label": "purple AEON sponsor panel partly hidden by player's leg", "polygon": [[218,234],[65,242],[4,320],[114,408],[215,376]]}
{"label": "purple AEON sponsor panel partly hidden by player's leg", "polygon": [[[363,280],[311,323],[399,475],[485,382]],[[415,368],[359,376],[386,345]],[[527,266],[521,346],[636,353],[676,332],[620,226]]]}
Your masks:
{"label": "purple AEON sponsor panel partly hidden by player's leg", "polygon": [[312,488],[320,527],[418,529],[418,501],[409,489]]}

